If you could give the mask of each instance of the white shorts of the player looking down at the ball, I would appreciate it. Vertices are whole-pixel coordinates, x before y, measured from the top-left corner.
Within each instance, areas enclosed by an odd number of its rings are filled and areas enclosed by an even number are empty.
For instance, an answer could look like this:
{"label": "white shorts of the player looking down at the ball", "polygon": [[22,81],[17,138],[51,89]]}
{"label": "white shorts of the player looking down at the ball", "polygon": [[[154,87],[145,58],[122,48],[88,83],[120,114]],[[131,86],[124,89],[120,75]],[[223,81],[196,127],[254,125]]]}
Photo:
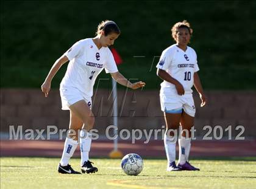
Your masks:
{"label": "white shorts of the player looking down at the ball", "polygon": [[62,109],[69,110],[69,106],[74,105],[77,101],[85,100],[91,109],[91,97],[87,97],[77,88],[60,89],[60,98],[62,99]]}

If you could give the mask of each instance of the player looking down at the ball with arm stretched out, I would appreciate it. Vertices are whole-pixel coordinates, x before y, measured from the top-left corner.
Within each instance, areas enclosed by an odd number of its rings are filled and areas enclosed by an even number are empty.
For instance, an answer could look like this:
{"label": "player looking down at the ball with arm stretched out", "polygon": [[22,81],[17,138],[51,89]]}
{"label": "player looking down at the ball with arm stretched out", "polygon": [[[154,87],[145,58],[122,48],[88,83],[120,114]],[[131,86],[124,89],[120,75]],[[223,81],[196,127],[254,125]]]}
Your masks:
{"label": "player looking down at the ball with arm stretched out", "polygon": [[[60,83],[62,109],[70,111],[69,129],[76,131],[76,136],[68,133],[60,160],[58,171],[64,174],[81,174],[69,165],[77,145],[80,143],[82,173],[95,173],[98,168],[91,165],[89,151],[91,146],[90,129],[94,125],[91,112],[91,96],[96,77],[105,69],[106,73],[121,85],[137,89],[145,85],[142,81],[130,83],[118,72],[112,52],[108,48],[120,35],[119,27],[113,21],[102,21],[98,26],[96,37],[80,40],[55,61],[46,80],[41,85],[45,97],[51,89],[51,80],[60,67],[69,61],[66,74]],[[81,137],[79,137],[78,131]],[[78,140],[79,139],[79,140]]]}

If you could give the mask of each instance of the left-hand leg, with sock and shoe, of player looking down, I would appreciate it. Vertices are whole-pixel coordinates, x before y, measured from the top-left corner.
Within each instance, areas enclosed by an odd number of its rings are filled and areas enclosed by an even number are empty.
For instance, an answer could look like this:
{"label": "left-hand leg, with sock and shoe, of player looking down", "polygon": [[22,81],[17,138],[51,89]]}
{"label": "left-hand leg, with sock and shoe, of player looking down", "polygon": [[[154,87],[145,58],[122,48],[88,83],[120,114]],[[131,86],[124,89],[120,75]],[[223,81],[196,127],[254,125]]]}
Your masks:
{"label": "left-hand leg, with sock and shoe, of player looking down", "polygon": [[60,164],[58,167],[59,173],[71,173],[71,174],[79,174],[79,172],[74,171],[73,168],[68,164],[69,159],[73,156],[74,151],[77,148],[78,141],[77,141],[77,132],[79,129],[83,126],[82,120],[76,116],[71,110],[70,110],[70,122],[69,122],[69,129],[73,129],[76,133],[69,132],[68,137],[66,137],[64,149],[62,153],[62,159],[60,160]]}

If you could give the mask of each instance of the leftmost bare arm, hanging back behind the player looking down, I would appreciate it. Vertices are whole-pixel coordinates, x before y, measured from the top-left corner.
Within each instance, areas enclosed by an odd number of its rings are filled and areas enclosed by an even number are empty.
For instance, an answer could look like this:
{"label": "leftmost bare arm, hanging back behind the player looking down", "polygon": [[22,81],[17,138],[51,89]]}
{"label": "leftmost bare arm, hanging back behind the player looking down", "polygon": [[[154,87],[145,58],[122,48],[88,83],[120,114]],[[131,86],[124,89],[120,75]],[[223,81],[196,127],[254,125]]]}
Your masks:
{"label": "leftmost bare arm, hanging back behind the player looking down", "polygon": [[68,57],[63,55],[58,60],[56,60],[55,63],[53,64],[53,66],[51,67],[49,74],[47,75],[46,79],[44,80],[44,83],[41,85],[41,90],[44,93],[45,97],[48,97],[49,91],[51,90],[52,78],[58,72],[60,67],[62,67],[62,65],[65,64],[67,61],[68,61]]}

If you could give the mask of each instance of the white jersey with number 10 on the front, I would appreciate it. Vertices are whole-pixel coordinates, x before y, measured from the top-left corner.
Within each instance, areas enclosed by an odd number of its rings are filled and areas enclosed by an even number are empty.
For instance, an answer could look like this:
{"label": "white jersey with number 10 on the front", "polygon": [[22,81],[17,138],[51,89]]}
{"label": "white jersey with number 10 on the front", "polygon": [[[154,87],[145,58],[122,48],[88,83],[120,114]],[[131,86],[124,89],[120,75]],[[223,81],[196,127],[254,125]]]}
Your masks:
{"label": "white jersey with number 10 on the front", "polygon": [[[182,84],[185,94],[193,92],[191,88],[194,84],[194,72],[199,70],[194,49],[187,47],[187,50],[184,52],[177,47],[177,44],[173,44],[163,50],[156,67],[165,70],[171,77],[178,80]],[[161,92],[177,94],[175,85],[165,80],[161,83]]]}

